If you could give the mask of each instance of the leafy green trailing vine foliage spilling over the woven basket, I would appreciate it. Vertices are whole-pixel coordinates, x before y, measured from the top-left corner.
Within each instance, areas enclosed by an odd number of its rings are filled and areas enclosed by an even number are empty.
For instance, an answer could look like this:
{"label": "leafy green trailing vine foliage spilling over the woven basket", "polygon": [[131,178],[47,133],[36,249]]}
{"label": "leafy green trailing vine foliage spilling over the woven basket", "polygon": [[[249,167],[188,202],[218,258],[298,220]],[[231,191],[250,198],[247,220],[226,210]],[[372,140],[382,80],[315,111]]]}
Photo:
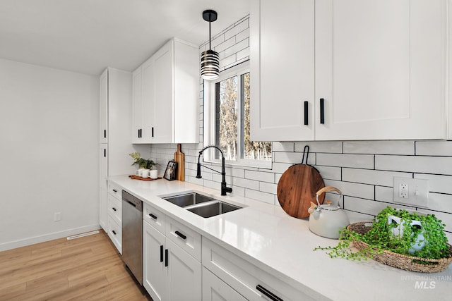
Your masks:
{"label": "leafy green trailing vine foliage spilling over the woven basket", "polygon": [[[388,223],[389,216],[400,218],[400,226],[396,222]],[[420,221],[421,226],[412,226],[411,221]],[[331,258],[340,257],[350,260],[367,260],[374,254],[381,254],[384,250],[425,259],[441,259],[451,255],[448,240],[444,234],[445,226],[434,214],[420,215],[416,212],[386,207],[374,218],[367,233],[356,233],[344,228],[340,231],[338,245],[319,246],[314,250],[326,250]],[[395,228],[397,228],[396,231],[393,231]],[[359,240],[366,242],[369,246],[352,251],[351,243]]]}

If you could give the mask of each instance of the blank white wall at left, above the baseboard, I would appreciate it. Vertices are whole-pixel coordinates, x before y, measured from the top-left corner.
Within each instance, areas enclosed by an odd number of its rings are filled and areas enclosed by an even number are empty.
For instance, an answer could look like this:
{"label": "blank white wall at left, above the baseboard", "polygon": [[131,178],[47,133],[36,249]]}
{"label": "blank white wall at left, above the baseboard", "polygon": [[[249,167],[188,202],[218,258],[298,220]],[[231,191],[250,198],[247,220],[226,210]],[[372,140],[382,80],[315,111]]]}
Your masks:
{"label": "blank white wall at left, above the baseboard", "polygon": [[99,227],[98,99],[96,76],[0,59],[0,250]]}

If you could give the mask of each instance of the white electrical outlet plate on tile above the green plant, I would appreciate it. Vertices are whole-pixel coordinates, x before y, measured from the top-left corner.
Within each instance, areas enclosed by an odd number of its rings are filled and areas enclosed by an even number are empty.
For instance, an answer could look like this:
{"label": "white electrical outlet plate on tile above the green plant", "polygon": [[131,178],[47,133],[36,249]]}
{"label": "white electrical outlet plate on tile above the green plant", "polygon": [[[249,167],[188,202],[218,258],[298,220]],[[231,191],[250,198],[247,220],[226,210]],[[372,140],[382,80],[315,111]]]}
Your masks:
{"label": "white electrical outlet plate on tile above the green plant", "polygon": [[394,177],[394,202],[427,208],[429,180]]}

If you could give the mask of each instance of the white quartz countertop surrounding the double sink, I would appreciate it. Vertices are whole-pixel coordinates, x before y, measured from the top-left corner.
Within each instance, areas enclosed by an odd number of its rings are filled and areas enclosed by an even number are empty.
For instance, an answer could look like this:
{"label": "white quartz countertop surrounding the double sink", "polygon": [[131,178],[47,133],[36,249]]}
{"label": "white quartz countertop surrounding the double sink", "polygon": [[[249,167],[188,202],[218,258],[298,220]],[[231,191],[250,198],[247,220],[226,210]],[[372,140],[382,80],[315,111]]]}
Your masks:
{"label": "white quartz countertop surrounding the double sink", "polygon": [[[128,176],[109,180],[316,300],[448,300],[452,295],[451,266],[441,273],[423,274],[370,259],[331,259],[313,249],[337,245],[337,240],[311,233],[307,220],[295,219],[279,206],[220,196],[220,185],[213,190],[177,180],[142,181]],[[244,208],[204,219],[159,197],[191,190]]]}

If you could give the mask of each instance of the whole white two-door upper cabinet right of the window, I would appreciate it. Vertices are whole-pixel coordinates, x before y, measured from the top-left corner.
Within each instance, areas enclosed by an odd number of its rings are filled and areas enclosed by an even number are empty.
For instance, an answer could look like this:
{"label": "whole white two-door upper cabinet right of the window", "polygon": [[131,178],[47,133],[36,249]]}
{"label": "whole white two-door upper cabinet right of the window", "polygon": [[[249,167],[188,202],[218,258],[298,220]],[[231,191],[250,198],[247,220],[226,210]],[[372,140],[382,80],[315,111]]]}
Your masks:
{"label": "whole white two-door upper cabinet right of the window", "polygon": [[446,138],[444,1],[268,2],[251,5],[253,140]]}

